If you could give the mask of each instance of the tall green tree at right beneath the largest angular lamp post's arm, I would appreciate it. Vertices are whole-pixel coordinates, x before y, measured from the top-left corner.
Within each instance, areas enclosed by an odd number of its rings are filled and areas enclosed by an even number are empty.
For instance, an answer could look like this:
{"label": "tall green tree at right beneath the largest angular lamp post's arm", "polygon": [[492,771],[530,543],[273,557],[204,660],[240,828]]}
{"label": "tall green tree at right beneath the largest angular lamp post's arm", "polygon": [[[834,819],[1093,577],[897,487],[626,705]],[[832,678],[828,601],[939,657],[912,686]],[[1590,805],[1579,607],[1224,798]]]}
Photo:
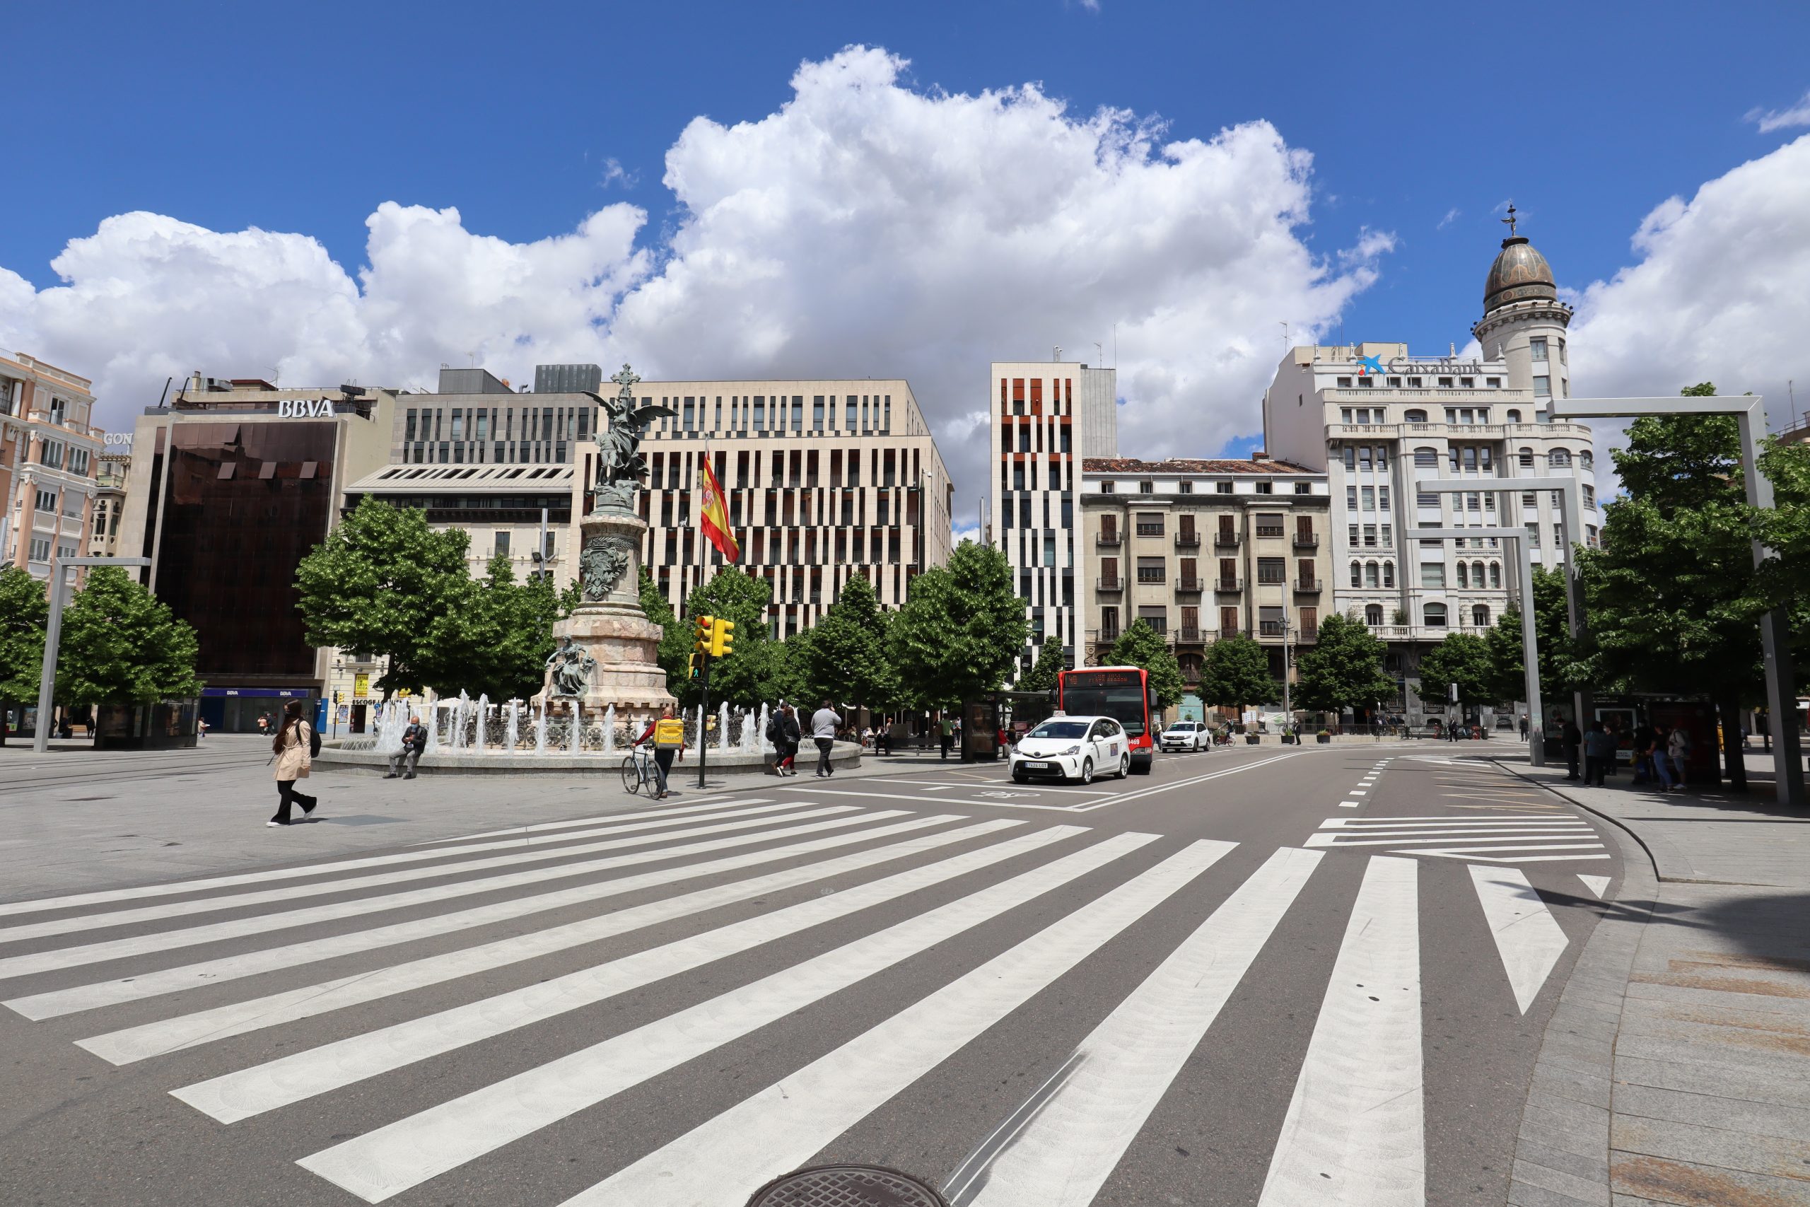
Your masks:
{"label": "tall green tree at right beneath the largest angular lamp post's arm", "polygon": [[[1598,689],[1707,695],[1723,731],[1739,733],[1741,706],[1765,697],[1765,586],[1752,568],[1736,420],[1634,420],[1615,467],[1627,498],[1607,508],[1602,546],[1578,559],[1589,604],[1584,675]],[[1727,775],[1741,789],[1747,767],[1729,746]]]}

